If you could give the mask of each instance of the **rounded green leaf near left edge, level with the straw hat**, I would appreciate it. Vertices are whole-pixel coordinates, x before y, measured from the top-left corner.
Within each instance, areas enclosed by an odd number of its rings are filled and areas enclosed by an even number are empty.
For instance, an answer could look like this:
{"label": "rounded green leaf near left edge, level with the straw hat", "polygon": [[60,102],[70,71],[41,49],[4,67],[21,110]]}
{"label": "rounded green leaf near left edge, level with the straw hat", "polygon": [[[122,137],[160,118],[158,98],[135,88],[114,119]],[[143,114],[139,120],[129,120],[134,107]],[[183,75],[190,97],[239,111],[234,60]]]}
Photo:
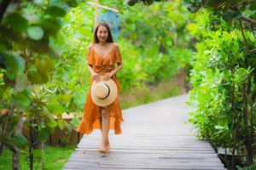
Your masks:
{"label": "rounded green leaf near left edge, level with the straw hat", "polygon": [[15,104],[19,105],[20,107],[26,107],[32,102],[32,99],[30,99],[27,90],[14,94],[13,98],[15,100]]}

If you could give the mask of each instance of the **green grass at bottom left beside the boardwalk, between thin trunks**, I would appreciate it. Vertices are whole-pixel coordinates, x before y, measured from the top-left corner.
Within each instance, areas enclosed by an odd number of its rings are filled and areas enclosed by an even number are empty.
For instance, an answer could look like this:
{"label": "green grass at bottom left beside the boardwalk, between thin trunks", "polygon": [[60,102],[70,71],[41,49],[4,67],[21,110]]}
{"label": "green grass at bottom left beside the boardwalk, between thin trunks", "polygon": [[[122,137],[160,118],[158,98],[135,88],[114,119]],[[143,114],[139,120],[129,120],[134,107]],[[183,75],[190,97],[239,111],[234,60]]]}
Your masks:
{"label": "green grass at bottom left beside the boardwalk, between thin trunks", "polygon": [[[72,155],[73,150],[76,148],[76,145],[68,145],[68,146],[49,146],[46,145],[44,147],[44,169],[45,170],[58,170],[62,169],[67,162],[68,158]],[[20,169],[21,170],[29,170],[29,159],[28,150],[21,151],[20,157]],[[3,150],[2,156],[0,156],[0,169],[1,170],[10,170],[12,169],[12,152],[5,149]],[[35,160],[34,161],[34,168],[33,170],[41,169],[41,164]]]}

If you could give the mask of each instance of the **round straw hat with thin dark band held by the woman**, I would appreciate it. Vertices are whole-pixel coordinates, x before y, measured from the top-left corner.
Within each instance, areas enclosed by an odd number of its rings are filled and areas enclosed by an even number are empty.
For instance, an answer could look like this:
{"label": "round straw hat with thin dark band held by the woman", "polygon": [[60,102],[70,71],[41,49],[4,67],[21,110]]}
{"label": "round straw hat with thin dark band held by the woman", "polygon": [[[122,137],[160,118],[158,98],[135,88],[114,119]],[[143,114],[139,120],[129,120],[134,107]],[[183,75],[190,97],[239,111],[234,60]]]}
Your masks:
{"label": "round straw hat with thin dark band held by the woman", "polygon": [[117,85],[111,78],[108,79],[108,81],[93,81],[90,88],[90,94],[92,101],[96,105],[107,106],[112,104],[117,97]]}

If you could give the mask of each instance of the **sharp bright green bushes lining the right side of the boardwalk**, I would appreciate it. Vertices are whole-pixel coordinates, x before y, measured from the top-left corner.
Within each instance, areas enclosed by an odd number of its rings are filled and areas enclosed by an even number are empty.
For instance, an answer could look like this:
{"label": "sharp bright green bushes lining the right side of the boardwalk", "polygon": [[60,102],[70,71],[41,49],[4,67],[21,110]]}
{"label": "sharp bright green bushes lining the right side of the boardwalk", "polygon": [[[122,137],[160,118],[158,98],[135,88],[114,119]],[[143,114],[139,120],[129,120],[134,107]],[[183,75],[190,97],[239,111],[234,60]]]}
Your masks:
{"label": "sharp bright green bushes lining the right side of the boardwalk", "polygon": [[[255,129],[255,45],[253,31],[242,20],[230,24],[209,10],[201,10],[188,29],[200,42],[191,71],[189,122],[198,136],[213,146],[247,154],[253,163]],[[246,14],[247,10],[242,14]],[[253,14],[253,13],[252,13]],[[232,160],[235,156],[232,156]],[[234,168],[234,161],[230,168]]]}

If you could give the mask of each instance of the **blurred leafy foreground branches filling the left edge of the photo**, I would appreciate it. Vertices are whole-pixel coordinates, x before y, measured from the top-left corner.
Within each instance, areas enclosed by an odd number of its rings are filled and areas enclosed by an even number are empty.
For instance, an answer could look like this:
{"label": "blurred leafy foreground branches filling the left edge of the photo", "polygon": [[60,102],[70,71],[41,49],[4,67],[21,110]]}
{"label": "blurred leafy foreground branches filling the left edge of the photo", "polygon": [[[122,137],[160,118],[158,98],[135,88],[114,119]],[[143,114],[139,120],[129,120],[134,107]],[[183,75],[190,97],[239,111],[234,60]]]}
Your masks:
{"label": "blurred leafy foreground branches filling the left edge of the photo", "polygon": [[0,153],[3,145],[12,151],[26,148],[26,138],[15,133],[23,118],[24,127],[34,129],[39,142],[44,142],[57,125],[47,108],[49,96],[40,92],[51,80],[49,75],[61,56],[49,42],[58,34],[69,4],[74,7],[77,3],[0,3]]}

